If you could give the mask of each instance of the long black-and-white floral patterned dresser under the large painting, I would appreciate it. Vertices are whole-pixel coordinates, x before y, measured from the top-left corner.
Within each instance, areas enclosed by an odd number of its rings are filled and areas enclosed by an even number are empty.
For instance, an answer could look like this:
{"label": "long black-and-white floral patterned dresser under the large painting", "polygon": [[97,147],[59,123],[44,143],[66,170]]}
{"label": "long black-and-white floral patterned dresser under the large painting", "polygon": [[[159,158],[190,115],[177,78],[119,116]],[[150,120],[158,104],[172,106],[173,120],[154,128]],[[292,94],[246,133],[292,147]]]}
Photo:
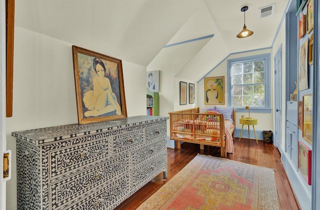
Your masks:
{"label": "long black-and-white floral patterned dresser under the large painting", "polygon": [[133,116],[12,132],[18,209],[112,209],[160,172],[166,119]]}

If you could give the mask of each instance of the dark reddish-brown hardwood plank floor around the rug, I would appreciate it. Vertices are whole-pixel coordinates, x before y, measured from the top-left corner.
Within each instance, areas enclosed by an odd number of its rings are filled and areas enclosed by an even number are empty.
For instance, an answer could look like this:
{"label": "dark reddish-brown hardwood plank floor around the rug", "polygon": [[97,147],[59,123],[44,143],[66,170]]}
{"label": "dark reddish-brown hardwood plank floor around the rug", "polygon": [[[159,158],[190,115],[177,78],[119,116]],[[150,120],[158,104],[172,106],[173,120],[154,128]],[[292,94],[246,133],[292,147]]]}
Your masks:
{"label": "dark reddish-brown hardwood plank floor around the rug", "polygon": [[[213,146],[204,146],[204,150],[200,150],[199,145],[193,143],[182,143],[181,149],[167,148],[167,178],[164,179],[162,173],[158,174],[141,189],[120,203],[115,209],[135,209],[152,193],[165,184],[167,180],[179,172],[197,153],[220,156],[220,149]],[[274,175],[280,209],[300,209],[282,167],[280,153],[275,146],[269,143],[263,143],[263,141],[258,141],[258,144],[256,144],[255,140],[245,138],[241,138],[239,142],[238,138],[234,138],[234,153],[229,154],[227,158],[253,165],[274,168],[276,170]]]}

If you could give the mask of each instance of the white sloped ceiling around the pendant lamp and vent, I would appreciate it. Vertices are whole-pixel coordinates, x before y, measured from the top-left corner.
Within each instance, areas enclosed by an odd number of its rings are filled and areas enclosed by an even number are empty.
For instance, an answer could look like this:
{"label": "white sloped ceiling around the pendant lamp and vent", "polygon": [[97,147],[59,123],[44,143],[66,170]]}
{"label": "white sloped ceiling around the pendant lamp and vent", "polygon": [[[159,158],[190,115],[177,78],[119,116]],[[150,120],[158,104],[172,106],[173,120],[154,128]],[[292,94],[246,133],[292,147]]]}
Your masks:
{"label": "white sloped ceiling around the pendant lamp and vent", "polygon": [[[177,74],[188,63],[211,57],[209,66],[197,73],[201,77],[229,53],[270,47],[287,2],[15,0],[15,25],[144,66],[165,59]],[[274,14],[259,18],[259,8],[273,3]],[[244,23],[240,8],[245,5],[249,7],[245,24],[254,33],[236,38]],[[163,48],[179,42],[183,44]],[[189,77],[194,79],[191,73]]]}

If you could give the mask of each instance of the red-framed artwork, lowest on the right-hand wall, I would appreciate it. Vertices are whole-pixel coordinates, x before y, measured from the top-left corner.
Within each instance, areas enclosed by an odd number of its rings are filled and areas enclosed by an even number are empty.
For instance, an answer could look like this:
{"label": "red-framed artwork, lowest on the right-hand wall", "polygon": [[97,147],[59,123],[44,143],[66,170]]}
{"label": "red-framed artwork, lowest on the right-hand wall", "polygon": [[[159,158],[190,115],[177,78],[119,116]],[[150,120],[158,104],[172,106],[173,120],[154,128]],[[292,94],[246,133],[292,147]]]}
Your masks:
{"label": "red-framed artwork, lowest on the right-hand wall", "polygon": [[302,141],[298,141],[298,168],[306,182],[311,185],[312,150]]}

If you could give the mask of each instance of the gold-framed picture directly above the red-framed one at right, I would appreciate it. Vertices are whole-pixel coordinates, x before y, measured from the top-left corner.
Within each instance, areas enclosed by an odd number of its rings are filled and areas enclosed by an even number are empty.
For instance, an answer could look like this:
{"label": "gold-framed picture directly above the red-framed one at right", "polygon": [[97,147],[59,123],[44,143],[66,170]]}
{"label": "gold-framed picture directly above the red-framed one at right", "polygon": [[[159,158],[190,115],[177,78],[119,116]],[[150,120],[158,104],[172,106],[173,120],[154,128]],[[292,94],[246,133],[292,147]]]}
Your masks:
{"label": "gold-framed picture directly above the red-framed one at right", "polygon": [[312,143],[312,94],[302,96],[303,103],[303,129],[302,138]]}

